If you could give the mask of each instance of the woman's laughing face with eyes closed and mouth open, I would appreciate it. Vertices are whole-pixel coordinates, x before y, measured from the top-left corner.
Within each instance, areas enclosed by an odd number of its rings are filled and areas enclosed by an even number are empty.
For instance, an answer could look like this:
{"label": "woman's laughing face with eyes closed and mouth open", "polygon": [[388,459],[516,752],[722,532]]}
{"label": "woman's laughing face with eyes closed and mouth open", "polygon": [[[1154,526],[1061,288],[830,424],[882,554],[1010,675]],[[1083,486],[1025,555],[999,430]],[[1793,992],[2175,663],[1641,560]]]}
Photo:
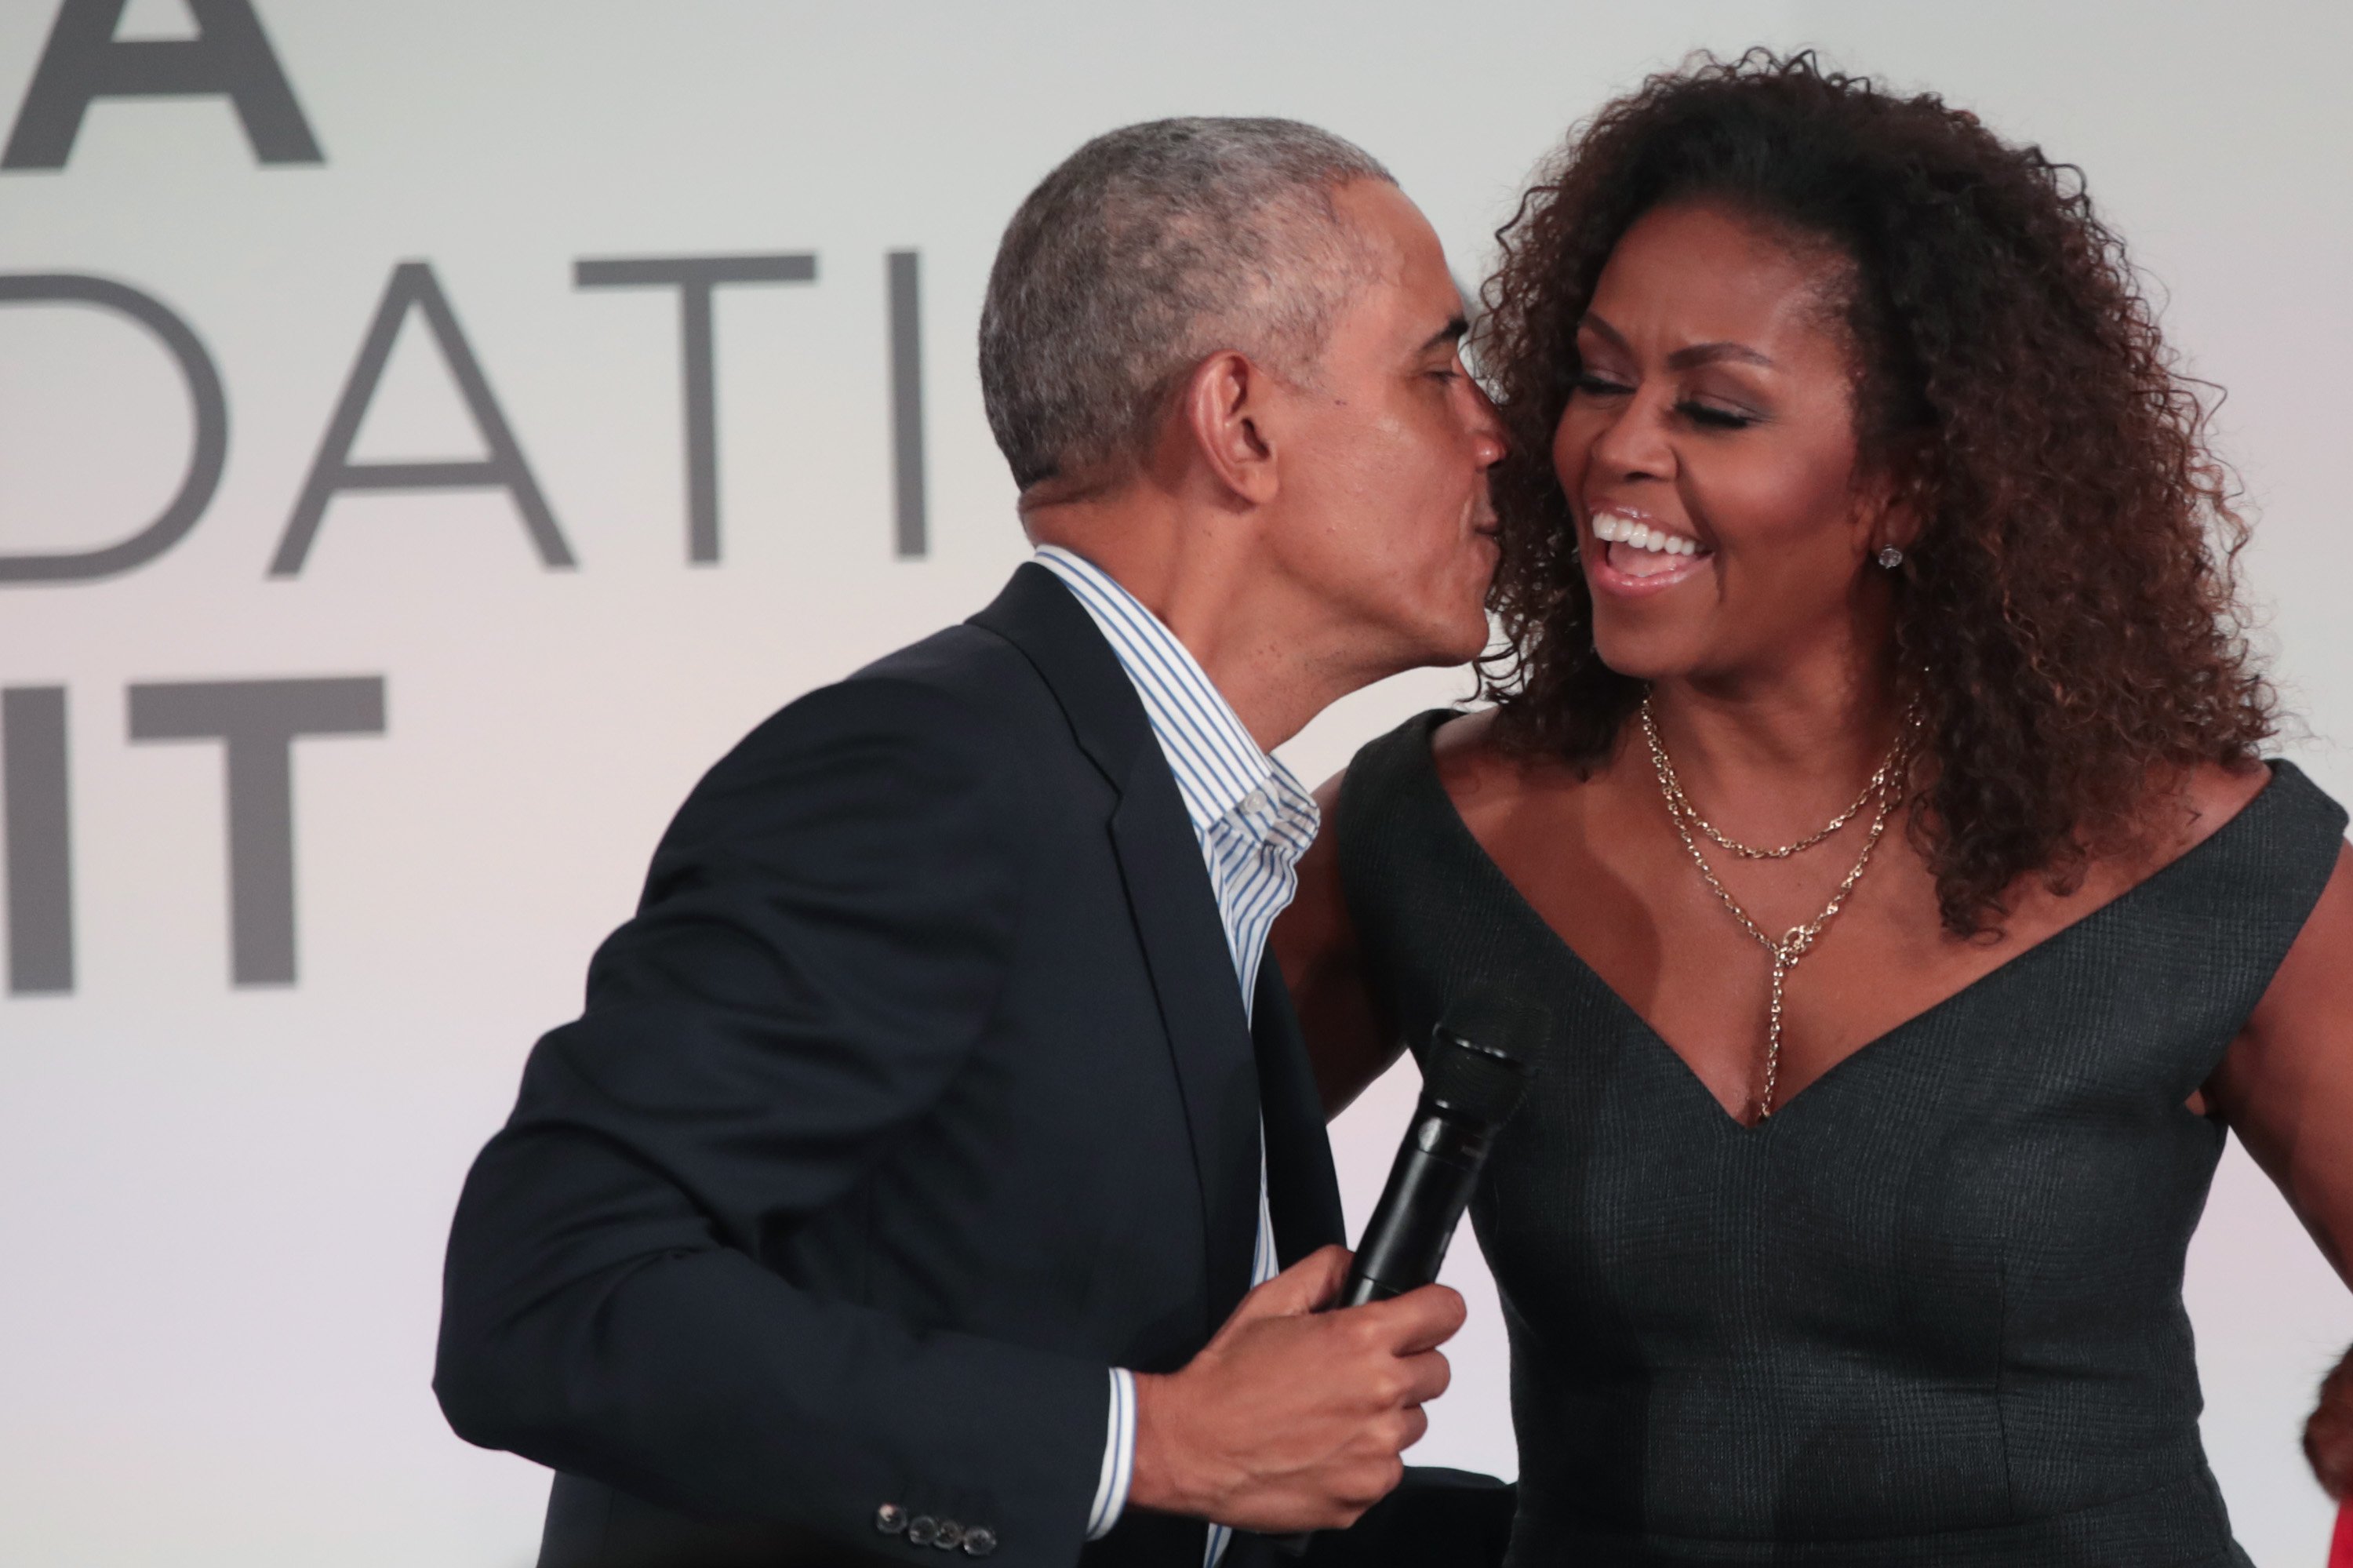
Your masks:
{"label": "woman's laughing face with eyes closed and mouth open", "polygon": [[1859,483],[1845,280],[1713,205],[1659,207],[1609,254],[1553,433],[1609,669],[1767,676],[1885,617],[1866,563],[1908,534]]}

